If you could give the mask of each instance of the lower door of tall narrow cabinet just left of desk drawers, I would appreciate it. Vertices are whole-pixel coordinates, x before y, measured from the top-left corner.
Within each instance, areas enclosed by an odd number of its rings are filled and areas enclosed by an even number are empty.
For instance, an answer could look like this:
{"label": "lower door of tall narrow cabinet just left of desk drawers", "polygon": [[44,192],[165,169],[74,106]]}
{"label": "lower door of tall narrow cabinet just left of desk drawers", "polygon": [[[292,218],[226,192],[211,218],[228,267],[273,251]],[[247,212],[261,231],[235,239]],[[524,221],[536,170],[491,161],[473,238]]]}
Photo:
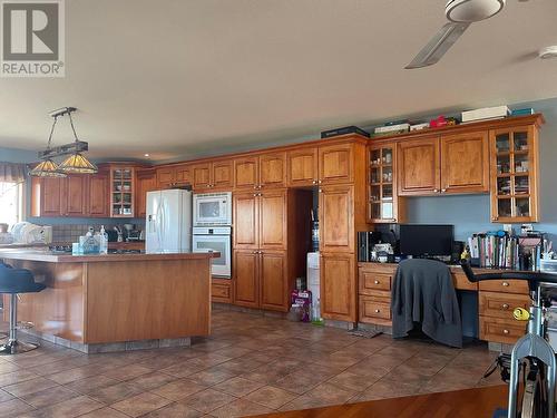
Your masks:
{"label": "lower door of tall narrow cabinet just left of desk drawers", "polygon": [[338,321],[356,321],[354,254],[321,254],[321,315]]}

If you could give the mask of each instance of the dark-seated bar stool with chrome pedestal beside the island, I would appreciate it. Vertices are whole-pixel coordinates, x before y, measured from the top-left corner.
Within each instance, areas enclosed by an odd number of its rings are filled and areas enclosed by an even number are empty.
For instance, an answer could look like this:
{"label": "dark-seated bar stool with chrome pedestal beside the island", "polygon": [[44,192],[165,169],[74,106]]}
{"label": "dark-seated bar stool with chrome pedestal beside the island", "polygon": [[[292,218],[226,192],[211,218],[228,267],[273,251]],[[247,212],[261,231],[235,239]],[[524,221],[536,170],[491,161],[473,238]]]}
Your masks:
{"label": "dark-seated bar stool with chrome pedestal beside the island", "polygon": [[36,293],[45,289],[45,284],[35,282],[29,270],[12,269],[10,265],[0,263],[0,293],[10,295],[10,336],[8,342],[0,346],[0,356],[27,352],[39,347],[18,341],[18,293]]}

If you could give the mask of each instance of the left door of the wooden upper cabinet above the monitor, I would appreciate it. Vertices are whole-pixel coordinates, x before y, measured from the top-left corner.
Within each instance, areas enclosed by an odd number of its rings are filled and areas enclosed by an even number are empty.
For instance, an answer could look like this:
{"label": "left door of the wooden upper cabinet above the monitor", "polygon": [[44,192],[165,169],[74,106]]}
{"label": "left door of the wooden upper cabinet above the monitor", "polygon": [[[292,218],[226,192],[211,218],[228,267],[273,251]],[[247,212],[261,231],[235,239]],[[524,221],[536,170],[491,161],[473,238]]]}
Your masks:
{"label": "left door of the wooden upper cabinet above the monitor", "polygon": [[439,137],[398,144],[399,195],[437,194],[441,186]]}

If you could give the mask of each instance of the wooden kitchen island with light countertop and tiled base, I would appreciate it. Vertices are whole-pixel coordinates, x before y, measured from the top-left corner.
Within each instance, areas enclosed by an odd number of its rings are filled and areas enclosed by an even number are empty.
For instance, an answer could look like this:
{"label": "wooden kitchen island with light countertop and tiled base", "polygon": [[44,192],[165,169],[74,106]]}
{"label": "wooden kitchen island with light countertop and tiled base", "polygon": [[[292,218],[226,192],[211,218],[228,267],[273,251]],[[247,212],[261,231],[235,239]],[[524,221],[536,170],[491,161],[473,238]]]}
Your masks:
{"label": "wooden kitchen island with light countertop and tiled base", "polygon": [[0,251],[0,260],[47,285],[21,294],[18,320],[84,352],[188,346],[190,337],[208,336],[211,260],[218,255]]}

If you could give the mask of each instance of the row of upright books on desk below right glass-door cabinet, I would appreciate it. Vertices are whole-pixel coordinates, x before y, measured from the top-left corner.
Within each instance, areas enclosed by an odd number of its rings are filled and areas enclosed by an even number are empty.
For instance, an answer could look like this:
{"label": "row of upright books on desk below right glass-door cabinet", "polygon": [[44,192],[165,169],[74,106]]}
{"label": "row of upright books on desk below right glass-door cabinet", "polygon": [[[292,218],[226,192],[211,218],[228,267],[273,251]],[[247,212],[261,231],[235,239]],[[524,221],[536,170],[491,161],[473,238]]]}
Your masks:
{"label": "row of upright books on desk below right glass-door cabinet", "polygon": [[470,256],[480,268],[518,269],[518,237],[499,233],[478,233],[468,239]]}

